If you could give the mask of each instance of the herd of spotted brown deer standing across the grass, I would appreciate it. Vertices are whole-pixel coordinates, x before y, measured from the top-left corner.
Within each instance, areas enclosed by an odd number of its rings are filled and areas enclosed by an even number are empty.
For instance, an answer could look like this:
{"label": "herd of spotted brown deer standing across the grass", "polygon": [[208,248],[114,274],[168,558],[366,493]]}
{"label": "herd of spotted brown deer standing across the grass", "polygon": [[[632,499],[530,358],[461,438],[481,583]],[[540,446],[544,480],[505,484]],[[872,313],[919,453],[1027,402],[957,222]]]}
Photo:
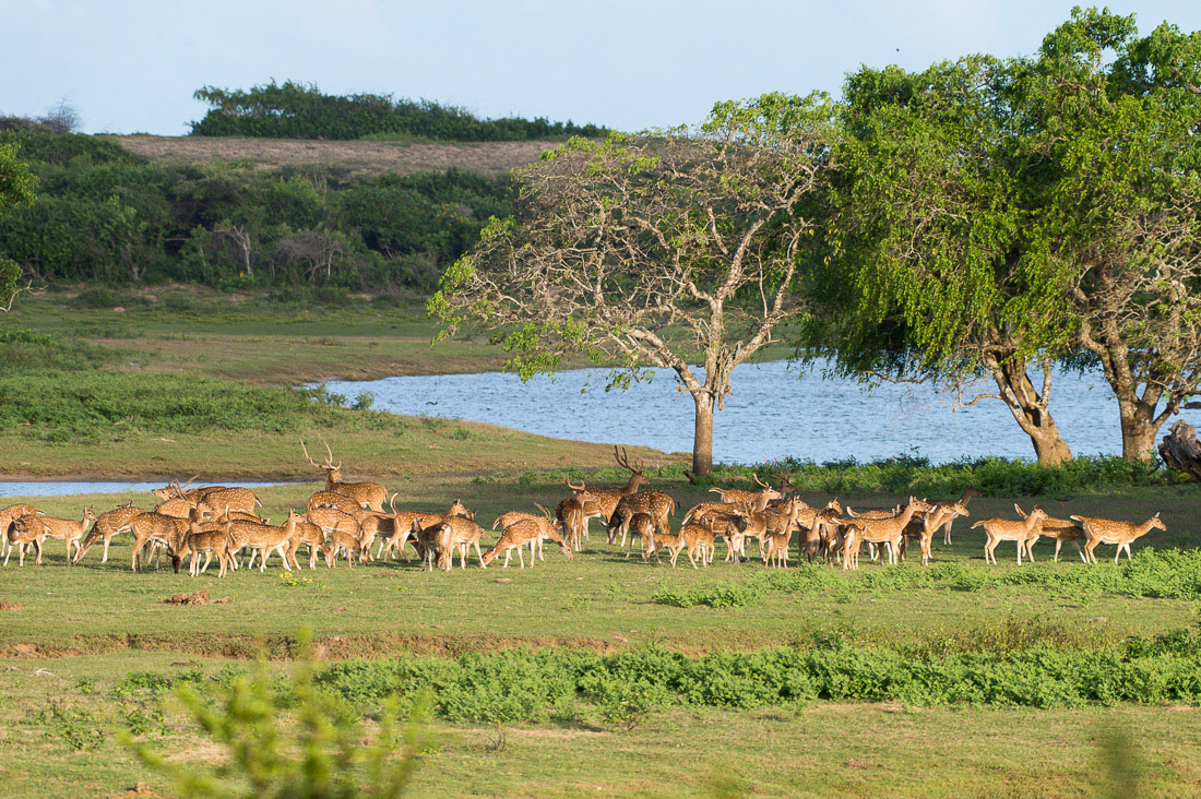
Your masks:
{"label": "herd of spotted brown deer standing across the grass", "polygon": [[[190,559],[189,571],[193,577],[205,571],[214,557],[220,576],[225,577],[227,571],[239,567],[244,549],[251,553],[247,568],[253,567],[257,557],[259,571],[265,571],[273,553],[279,553],[283,568],[299,568],[295,556],[301,545],[307,547],[310,568],[316,568],[318,554],[330,567],[343,555],[352,567],[354,561],[366,562],[394,554],[407,560],[407,547],[412,547],[430,570],[435,564],[450,570],[456,550],[459,565],[465,568],[472,547],[482,567],[501,554],[508,566],[515,549],[525,568],[524,549],[528,547],[531,561],[543,557],[545,541],[557,543],[567,557],[574,559],[575,551],[588,539],[588,521],[599,518],[607,526],[609,543],[617,543],[626,557],[637,536],[644,561],[651,556],[658,561],[661,553],[667,551],[673,567],[681,551],[687,551],[693,568],[698,560],[709,566],[717,538],[725,542],[727,560],[739,562],[746,557],[746,541],[755,538],[764,564],[787,567],[794,532],[800,539],[800,554],[809,562],[824,560],[832,565],[839,561],[844,570],[859,568],[859,551],[866,543],[872,560],[878,556],[879,547],[886,553],[888,562],[895,564],[904,557],[912,541],[919,544],[925,566],[930,562],[934,533],[942,529],[944,543],[950,544],[952,523],[968,515],[968,502],[980,496],[969,487],[958,500],[926,501],[910,496],[904,506],[891,509],[855,512],[843,508],[837,499],[817,508],[795,495],[796,488],[787,476],[769,473],[779,482],[777,489],[754,475],[759,490],[712,488],[710,490],[719,494],[721,501],[700,502],[689,508],[679,532],[673,533],[669,517],[676,509],[675,500],[663,491],[639,490],[647,483],[643,466],[631,464],[628,454],[614,447],[617,464],[631,472],[625,485],[598,488],[567,481],[572,495],[561,501],[554,513],[534,503],[539,513],[510,511],[497,517],[492,530],[501,529],[500,539],[488,553],[482,553],[479,543],[484,530],[476,523],[474,513],[460,501],[456,500],[446,513],[398,511],[396,495],[389,497],[383,485],[343,481],[341,460],[334,464],[328,443],[325,460],[321,464],[309,455],[303,441],[300,446],[305,459],[325,472],[325,489],[309,497],[306,513],[289,511],[282,525],[271,525],[256,514],[262,503],[250,489],[189,488],[193,477],[183,485],[172,482],[154,489],[162,501],[153,511],[133,507],[131,502],[97,517],[89,507],[83,519],[76,521],[47,517],[29,505],[0,509],[4,564],[8,564],[16,550],[18,564],[23,566],[26,550],[31,548],[40,565],[47,538],[66,543],[68,565],[78,562],[94,543],[103,541],[102,560],[107,561],[113,536],[130,532],[133,536],[130,564],[133,571],[138,571],[143,555],[145,561],[154,556],[157,567],[166,551],[175,571],[180,570],[184,559]],[[789,494],[791,496],[785,499]],[[1123,549],[1130,557],[1130,544],[1136,538],[1152,529],[1166,530],[1158,513],[1136,525],[1080,515],[1056,519],[1041,507],[1034,507],[1030,513],[1017,505],[1014,508],[1020,521],[992,518],[972,525],[973,529],[984,527],[987,562],[997,562],[994,551],[1002,541],[1016,542],[1018,565],[1023,553],[1033,561],[1033,545],[1041,537],[1054,539],[1056,561],[1063,542],[1070,541],[1086,564],[1097,562],[1094,550],[1099,544],[1116,544],[1113,560],[1117,562]],[[90,529],[89,521],[95,523]],[[371,547],[377,538],[378,547],[372,556]]]}

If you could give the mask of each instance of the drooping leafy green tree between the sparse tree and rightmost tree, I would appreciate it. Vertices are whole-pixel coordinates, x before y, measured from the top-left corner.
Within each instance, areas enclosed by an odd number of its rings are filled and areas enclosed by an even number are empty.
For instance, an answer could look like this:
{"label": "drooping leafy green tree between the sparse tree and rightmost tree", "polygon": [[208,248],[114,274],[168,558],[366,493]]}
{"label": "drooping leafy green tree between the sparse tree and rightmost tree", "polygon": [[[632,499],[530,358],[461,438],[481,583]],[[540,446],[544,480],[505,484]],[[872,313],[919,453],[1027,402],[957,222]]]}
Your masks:
{"label": "drooping leafy green tree between the sparse tree and rightmost tree", "polygon": [[[1011,62],[972,56],[922,72],[862,68],[846,87],[847,136],[817,281],[815,352],[849,372],[997,387],[1040,461],[1071,452],[1050,410],[1070,340],[1068,268],[1032,227]],[[1035,181],[1036,183],[1036,181]],[[1035,382],[1030,371],[1041,371]]]}

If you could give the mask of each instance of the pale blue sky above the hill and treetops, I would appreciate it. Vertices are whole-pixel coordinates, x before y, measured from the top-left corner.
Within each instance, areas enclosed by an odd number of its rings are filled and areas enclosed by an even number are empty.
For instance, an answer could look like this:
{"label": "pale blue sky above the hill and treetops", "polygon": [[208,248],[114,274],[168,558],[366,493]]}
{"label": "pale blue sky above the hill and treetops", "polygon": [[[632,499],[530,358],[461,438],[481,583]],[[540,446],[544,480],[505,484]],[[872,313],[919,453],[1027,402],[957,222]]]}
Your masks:
{"label": "pale blue sky above the hill and treetops", "polygon": [[[837,93],[861,64],[1030,54],[1072,5],[0,0],[0,113],[65,97],[89,132],[175,135],[203,115],[201,85],[291,78],[638,130],[698,121],[717,100]],[[1111,7],[1145,32],[1164,19],[1201,29],[1197,0]]]}

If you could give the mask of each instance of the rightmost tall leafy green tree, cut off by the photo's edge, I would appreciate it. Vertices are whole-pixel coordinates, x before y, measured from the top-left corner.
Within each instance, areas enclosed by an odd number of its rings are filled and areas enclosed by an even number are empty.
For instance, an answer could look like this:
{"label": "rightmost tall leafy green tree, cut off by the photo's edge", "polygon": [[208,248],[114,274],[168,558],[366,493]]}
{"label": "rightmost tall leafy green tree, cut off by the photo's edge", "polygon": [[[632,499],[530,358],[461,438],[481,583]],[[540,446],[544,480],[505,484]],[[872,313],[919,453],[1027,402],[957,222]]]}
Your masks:
{"label": "rightmost tall leafy green tree, cut off by the photo's edge", "polygon": [[1201,31],[1139,37],[1133,16],[1077,8],[1016,90],[1077,344],[1117,398],[1123,455],[1152,458],[1201,381]]}

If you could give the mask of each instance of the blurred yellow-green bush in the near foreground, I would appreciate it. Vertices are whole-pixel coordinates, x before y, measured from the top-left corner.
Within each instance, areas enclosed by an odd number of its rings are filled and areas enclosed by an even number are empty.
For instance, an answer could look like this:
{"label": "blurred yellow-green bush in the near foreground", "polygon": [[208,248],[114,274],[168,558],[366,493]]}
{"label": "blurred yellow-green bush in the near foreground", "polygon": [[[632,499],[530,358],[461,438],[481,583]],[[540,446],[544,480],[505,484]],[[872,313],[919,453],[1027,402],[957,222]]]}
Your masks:
{"label": "blurred yellow-green bush in the near foreground", "polygon": [[[359,718],[317,690],[311,655],[297,662],[283,691],[273,687],[267,662],[225,688],[202,694],[184,684],[177,696],[204,734],[227,753],[210,773],[168,759],[131,737],[123,743],[150,769],[172,780],[180,797],[404,795],[422,747],[418,704],[402,740],[395,705],[384,699],[374,740],[363,745]],[[399,750],[399,759],[394,756]]]}

